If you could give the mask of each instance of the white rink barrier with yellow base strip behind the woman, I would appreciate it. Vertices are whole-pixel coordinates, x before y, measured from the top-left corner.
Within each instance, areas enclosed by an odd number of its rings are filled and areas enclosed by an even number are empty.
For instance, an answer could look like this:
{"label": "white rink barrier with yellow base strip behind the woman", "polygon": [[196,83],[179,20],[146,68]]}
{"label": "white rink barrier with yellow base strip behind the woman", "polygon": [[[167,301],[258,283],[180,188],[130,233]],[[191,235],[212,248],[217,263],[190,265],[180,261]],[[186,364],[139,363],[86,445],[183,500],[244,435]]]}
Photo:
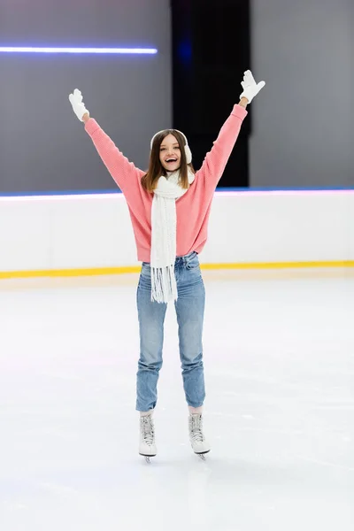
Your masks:
{"label": "white rink barrier with yellow base strip behind the woman", "polygon": [[[354,266],[354,190],[217,190],[202,269]],[[119,192],[0,196],[0,279],[138,273]]]}

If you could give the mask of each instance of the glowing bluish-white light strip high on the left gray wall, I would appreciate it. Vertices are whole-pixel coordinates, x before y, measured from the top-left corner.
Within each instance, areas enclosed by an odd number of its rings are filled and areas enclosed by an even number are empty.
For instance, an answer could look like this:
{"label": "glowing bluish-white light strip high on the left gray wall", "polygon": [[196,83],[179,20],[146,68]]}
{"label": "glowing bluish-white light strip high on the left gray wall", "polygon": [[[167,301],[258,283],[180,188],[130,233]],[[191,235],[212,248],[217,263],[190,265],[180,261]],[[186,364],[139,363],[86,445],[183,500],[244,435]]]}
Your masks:
{"label": "glowing bluish-white light strip high on the left gray wall", "polygon": [[156,48],[50,48],[34,46],[0,46],[0,53],[102,53],[102,54],[155,54]]}

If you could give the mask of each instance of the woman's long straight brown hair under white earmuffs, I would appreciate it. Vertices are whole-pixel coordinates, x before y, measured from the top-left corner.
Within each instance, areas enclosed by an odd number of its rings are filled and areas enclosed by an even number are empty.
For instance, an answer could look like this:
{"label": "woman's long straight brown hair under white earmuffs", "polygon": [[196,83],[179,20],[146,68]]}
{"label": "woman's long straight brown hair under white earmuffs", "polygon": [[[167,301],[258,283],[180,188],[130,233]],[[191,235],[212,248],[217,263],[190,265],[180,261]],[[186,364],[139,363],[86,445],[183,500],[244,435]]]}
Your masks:
{"label": "woman's long straight brown hair under white earmuffs", "polygon": [[193,165],[187,164],[186,152],[184,150],[186,142],[183,138],[183,135],[181,135],[181,133],[175,129],[165,129],[165,131],[162,131],[155,136],[150,153],[149,169],[145,175],[142,175],[142,188],[148,192],[153,192],[154,189],[156,189],[158,186],[158,179],[161,177],[161,175],[167,175],[167,172],[160,161],[160,146],[164,138],[168,135],[175,136],[180,145],[181,168],[179,183],[182,189],[189,189],[188,170],[190,169],[193,173],[196,173]]}

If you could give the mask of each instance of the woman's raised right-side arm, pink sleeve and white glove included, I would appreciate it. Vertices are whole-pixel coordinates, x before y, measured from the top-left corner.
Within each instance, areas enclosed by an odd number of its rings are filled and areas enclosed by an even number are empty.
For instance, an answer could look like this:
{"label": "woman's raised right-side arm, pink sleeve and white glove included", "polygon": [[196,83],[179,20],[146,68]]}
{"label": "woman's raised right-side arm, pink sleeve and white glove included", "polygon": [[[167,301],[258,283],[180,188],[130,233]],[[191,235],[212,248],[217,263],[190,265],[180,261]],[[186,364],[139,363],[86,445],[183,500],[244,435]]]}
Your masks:
{"label": "woman's raised right-side arm, pink sleeve and white glove included", "polygon": [[260,89],[263,89],[266,83],[265,81],[260,81],[256,84],[252,73],[250,73],[250,70],[247,70],[244,73],[241,84],[243,92],[240,96],[240,101],[238,104],[235,104],[227,121],[221,127],[218,138],[212,145],[212,150],[206,154],[204,163],[199,172],[197,172],[198,177],[204,179],[205,185],[211,189],[217,187],[222,173],[224,173],[228,158],[240,134],[242,121],[248,114],[246,111],[247,104],[252,101]]}

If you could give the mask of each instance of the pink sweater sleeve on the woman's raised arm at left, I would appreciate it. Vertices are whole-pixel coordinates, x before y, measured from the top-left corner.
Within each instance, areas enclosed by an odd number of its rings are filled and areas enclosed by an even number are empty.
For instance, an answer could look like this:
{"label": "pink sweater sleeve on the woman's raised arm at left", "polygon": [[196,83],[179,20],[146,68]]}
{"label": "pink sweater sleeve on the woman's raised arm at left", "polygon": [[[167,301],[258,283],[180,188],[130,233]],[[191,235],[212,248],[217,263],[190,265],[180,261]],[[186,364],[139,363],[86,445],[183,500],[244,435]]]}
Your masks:
{"label": "pink sweater sleeve on the woman's raised arm at left", "polygon": [[111,138],[99,127],[96,119],[90,118],[85,124],[85,130],[91,137],[99,156],[113,180],[123,193],[130,191],[137,186],[144,172],[135,167],[132,162],[123,155],[116,147]]}

